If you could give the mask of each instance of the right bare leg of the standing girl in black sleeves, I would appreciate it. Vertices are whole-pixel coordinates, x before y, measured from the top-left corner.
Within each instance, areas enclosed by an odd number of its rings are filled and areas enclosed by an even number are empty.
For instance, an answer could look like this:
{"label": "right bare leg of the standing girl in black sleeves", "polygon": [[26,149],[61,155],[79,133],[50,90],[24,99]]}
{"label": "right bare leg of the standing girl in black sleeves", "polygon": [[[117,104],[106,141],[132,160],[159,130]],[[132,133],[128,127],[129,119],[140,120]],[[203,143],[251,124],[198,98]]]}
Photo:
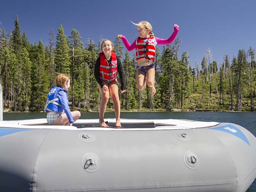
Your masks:
{"label": "right bare leg of the standing girl in black sleeves", "polygon": [[120,123],[120,100],[118,95],[118,83],[117,80],[109,83],[110,97],[112,98],[114,111],[116,113],[116,127],[121,127]]}

